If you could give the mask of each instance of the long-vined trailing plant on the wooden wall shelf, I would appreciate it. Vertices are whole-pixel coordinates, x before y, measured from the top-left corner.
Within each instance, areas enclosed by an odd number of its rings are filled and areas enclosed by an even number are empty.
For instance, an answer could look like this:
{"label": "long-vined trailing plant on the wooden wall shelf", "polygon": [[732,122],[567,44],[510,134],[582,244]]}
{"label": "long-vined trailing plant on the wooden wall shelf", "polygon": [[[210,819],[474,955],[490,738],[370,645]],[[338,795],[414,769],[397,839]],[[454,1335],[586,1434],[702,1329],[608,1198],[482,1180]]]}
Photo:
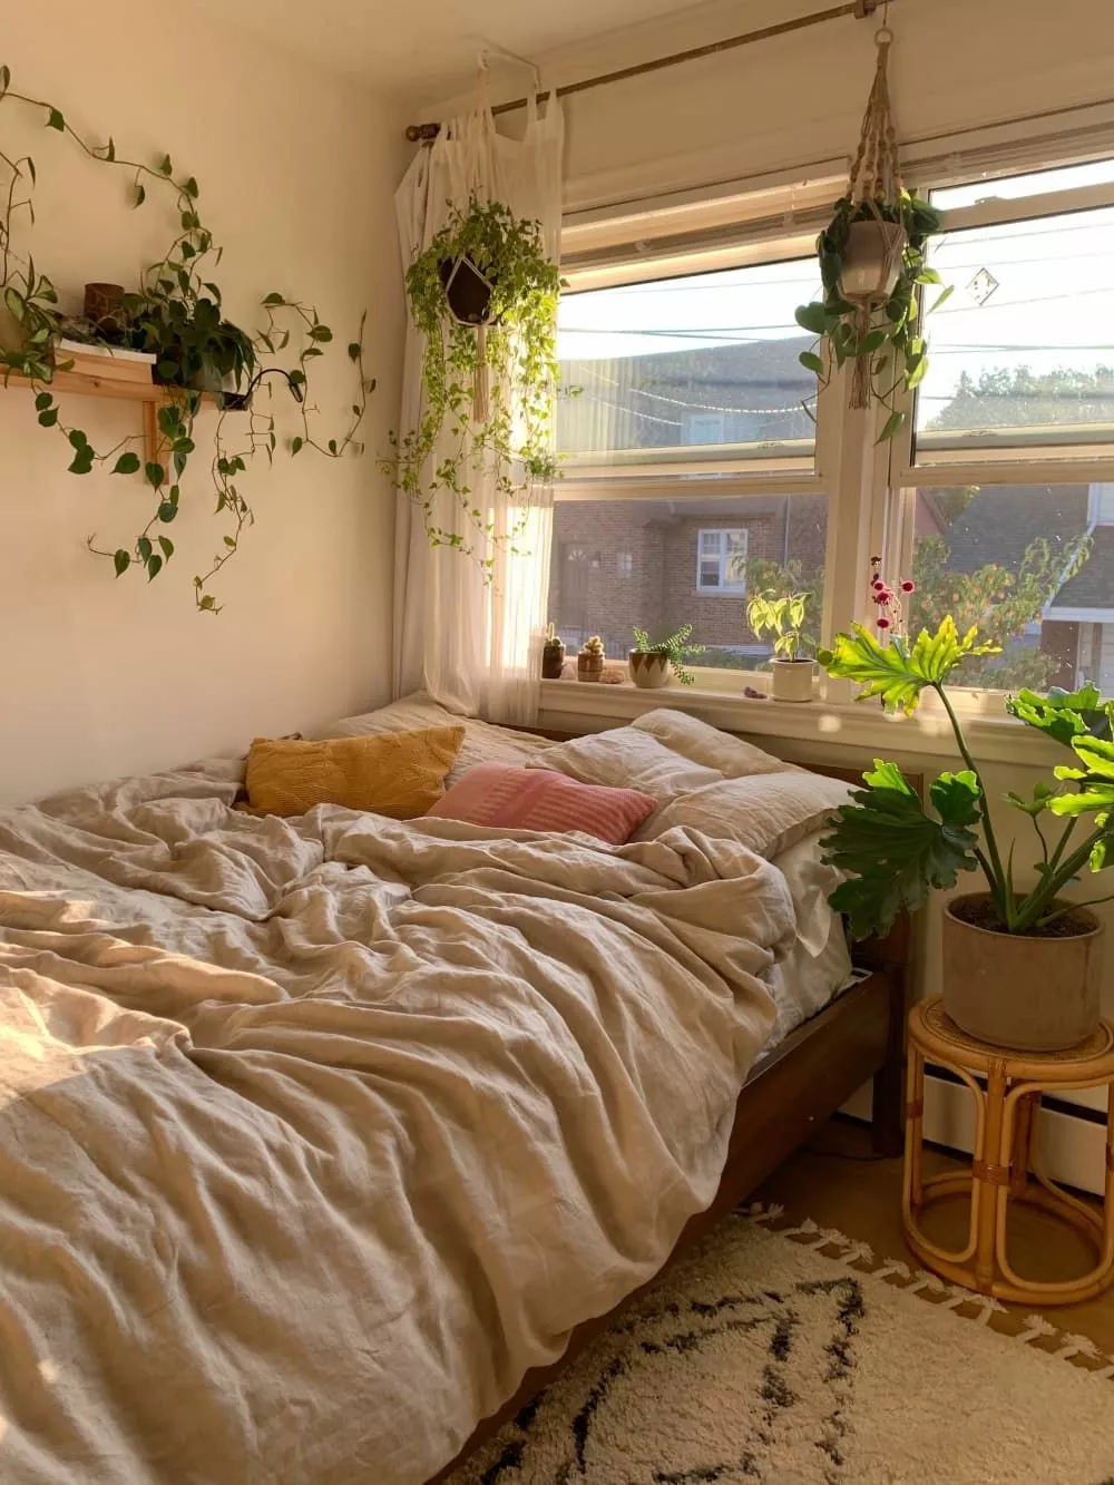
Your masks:
{"label": "long-vined trailing plant on the wooden wall shelf", "polygon": [[[239,549],[245,527],[254,523],[242,477],[257,454],[272,462],[278,448],[275,416],[269,407],[257,407],[253,394],[270,376],[285,380],[300,414],[297,434],[285,440],[291,454],[313,448],[339,459],[348,450],[361,451],[356,434],[374,389],[364,373],[364,321],[358,339],[348,346],[358,377],[348,426],[337,437],[318,435],[310,373],[333,340],[333,331],[316,309],[278,291],[263,300],[264,324],[254,333],[224,319],[220,285],[212,278],[223,248],[201,218],[198,181],[177,172],[168,154],[146,163],[120,154],[111,135],[104,144],[91,143],[53,104],[16,92],[10,70],[0,65],[0,104],[4,102],[39,113],[46,129],[67,137],[89,160],[122,172],[134,209],[144,206],[149,195],[174,206],[177,227],[169,247],[144,270],[137,288],[123,294],[111,331],[101,334],[97,327],[67,319],[51,278],[37,269],[30,249],[18,249],[19,230],[30,233],[34,226],[37,169],[30,154],[0,150],[0,168],[7,174],[6,189],[0,187],[0,294],[13,325],[12,334],[0,331],[0,380],[7,385],[18,376],[36,389],[37,420],[68,443],[70,474],[88,475],[102,468],[135,477],[149,489],[150,520],[131,545],[101,546],[95,536],[88,539],[89,549],[110,561],[117,578],[140,567],[149,581],[174,555],[168,527],[178,515],[183,475],[198,448],[195,419],[205,399],[203,388],[229,388],[208,394],[217,407],[209,477],[215,511],[224,518],[226,530],[209,567],[193,579],[198,609],[217,613],[220,606],[208,585]],[[52,383],[58,371],[73,364],[58,349],[64,337],[154,353],[156,379],[166,388],[166,401],[157,410],[154,457],[141,457],[137,451],[144,443],[141,434],[110,448],[95,448],[85,429],[62,416]],[[245,419],[239,416],[244,413]]]}

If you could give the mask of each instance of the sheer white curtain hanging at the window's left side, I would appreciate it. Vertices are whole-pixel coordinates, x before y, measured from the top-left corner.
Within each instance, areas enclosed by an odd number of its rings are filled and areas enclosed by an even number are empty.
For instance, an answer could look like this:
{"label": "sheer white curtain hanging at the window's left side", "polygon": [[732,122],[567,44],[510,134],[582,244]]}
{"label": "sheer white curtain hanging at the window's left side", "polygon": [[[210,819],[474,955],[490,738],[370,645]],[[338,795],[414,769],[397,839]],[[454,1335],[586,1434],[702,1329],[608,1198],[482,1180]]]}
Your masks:
{"label": "sheer white curtain hanging at the window's left side", "polygon": [[[403,263],[410,264],[444,226],[450,203],[469,198],[501,200],[518,218],[542,224],[545,251],[560,255],[561,147],[560,104],[550,99],[544,117],[529,110],[521,140],[496,134],[489,107],[450,120],[429,148],[419,151],[395,196]],[[422,408],[422,337],[407,333],[403,383],[405,434]],[[434,459],[440,459],[438,450]],[[453,711],[492,722],[529,725],[538,717],[541,646],[550,585],[553,490],[535,490],[521,529],[523,511],[495,480],[490,460],[469,471],[475,503],[493,523],[492,581],[475,557],[449,546],[431,548],[422,512],[398,496],[395,538],[395,695],[428,691]],[[438,496],[434,523],[472,529],[450,495]],[[499,536],[515,533],[509,542]]]}

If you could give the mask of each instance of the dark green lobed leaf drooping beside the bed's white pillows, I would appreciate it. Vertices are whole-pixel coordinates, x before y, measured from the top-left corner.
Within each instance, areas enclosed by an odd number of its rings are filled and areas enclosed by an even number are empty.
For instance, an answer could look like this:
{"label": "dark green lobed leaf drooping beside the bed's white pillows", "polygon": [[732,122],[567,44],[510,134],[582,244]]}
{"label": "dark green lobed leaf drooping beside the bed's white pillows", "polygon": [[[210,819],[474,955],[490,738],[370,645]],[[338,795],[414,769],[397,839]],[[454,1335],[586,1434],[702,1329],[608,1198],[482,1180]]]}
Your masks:
{"label": "dark green lobed leaf drooping beside the bed's white pillows", "polygon": [[937,887],[954,887],[960,872],[977,867],[974,827],[980,818],[974,774],[942,774],[930,797],[939,820],[928,815],[896,763],[875,759],[867,784],[841,805],[821,846],[824,860],[853,873],[829,901],[848,918],[853,939],[887,933],[897,913],[924,906]]}

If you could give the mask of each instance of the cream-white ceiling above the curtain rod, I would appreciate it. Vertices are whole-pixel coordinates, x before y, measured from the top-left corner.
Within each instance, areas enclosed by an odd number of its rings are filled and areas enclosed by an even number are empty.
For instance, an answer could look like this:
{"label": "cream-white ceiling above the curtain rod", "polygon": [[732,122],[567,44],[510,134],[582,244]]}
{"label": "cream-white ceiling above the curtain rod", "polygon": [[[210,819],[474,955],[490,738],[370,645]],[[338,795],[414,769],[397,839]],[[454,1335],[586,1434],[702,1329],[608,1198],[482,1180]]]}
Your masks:
{"label": "cream-white ceiling above the curtain rod", "polygon": [[[659,16],[676,0],[193,0],[224,22],[263,34],[397,98],[447,95],[475,76],[496,43],[523,56]],[[505,74],[505,71],[504,71]],[[527,74],[529,76],[529,74]]]}

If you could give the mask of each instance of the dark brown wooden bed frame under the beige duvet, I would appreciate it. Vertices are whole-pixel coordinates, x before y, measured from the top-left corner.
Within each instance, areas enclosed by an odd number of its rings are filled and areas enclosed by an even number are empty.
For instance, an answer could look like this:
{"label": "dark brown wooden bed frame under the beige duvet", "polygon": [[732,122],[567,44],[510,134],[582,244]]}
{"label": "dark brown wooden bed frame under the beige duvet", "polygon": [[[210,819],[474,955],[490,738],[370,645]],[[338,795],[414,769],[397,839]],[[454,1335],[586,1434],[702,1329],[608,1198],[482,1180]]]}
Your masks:
{"label": "dark brown wooden bed frame under the beige duvet", "polygon": [[[541,729],[539,729],[541,731]],[[567,738],[570,734],[547,732]],[[810,765],[815,774],[861,783],[861,774]],[[922,780],[909,775],[913,789]],[[719,1189],[711,1206],[689,1218],[667,1259],[673,1264],[802,1145],[810,1135],[866,1083],[873,1086],[872,1140],[878,1154],[900,1155],[903,1148],[902,1097],[905,1086],[905,1023],[909,1010],[913,952],[912,921],[902,915],[885,939],[857,944],[853,959],[869,970],[864,980],[845,990],[824,1010],[798,1026],[752,1074],[735,1105],[735,1121]],[[440,1485],[481,1443],[514,1418],[547,1387],[590,1341],[615,1323],[616,1314],[658,1282],[627,1295],[608,1314],[578,1325],[560,1360],[526,1374],[511,1400],[484,1418],[456,1458],[428,1485]]]}

